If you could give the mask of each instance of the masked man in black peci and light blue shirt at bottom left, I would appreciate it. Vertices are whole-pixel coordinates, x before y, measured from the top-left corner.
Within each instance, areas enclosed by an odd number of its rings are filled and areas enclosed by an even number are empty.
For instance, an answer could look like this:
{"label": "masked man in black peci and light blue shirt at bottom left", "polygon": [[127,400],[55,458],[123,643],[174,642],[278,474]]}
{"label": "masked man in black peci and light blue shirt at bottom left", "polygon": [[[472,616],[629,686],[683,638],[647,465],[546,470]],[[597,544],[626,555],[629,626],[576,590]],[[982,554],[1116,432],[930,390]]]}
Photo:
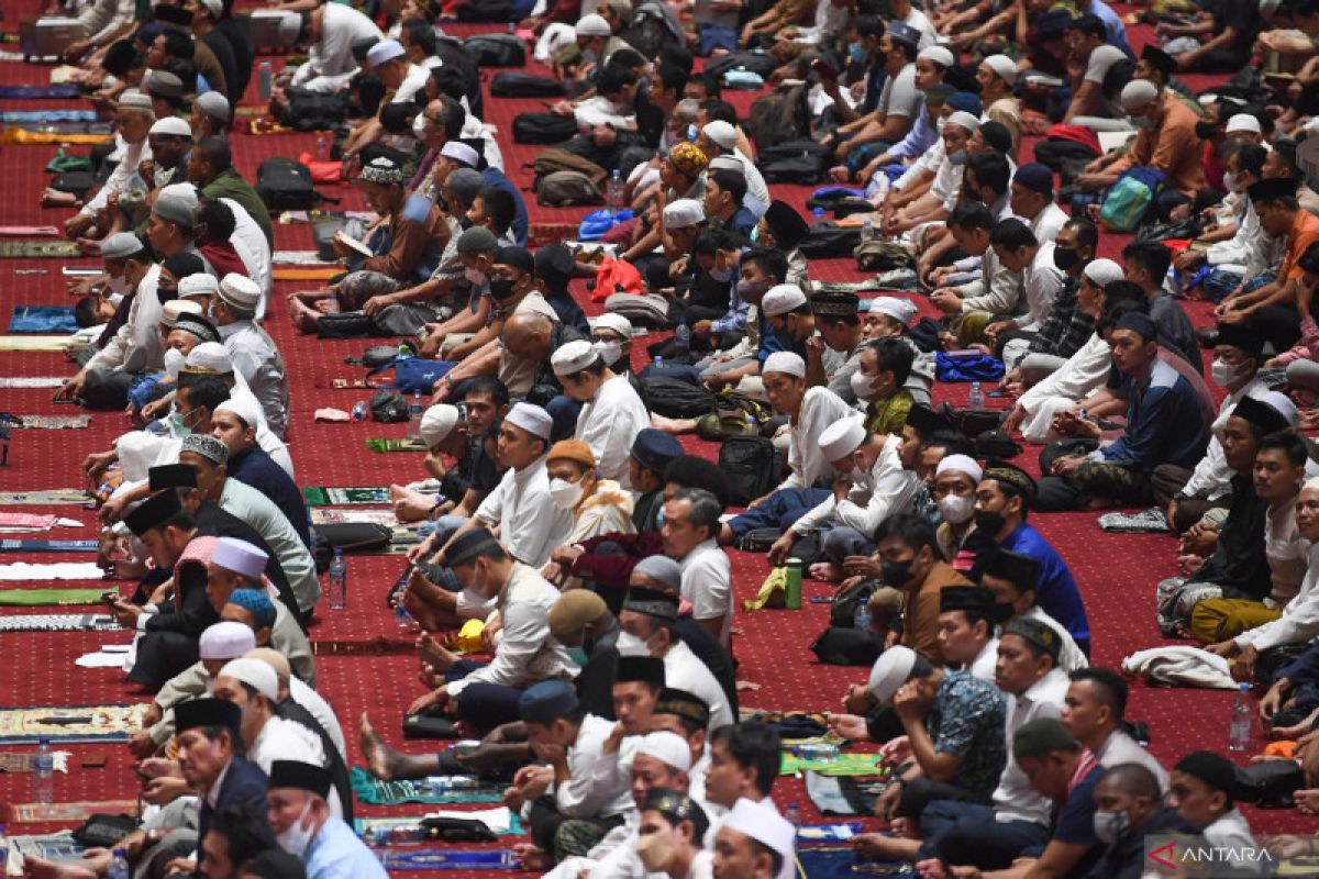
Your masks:
{"label": "masked man in black peci and light blue shirt at bottom left", "polygon": [[280,847],[302,861],[307,879],[385,879],[380,859],[331,813],[330,791],[330,774],[321,766],[302,760],[270,764],[266,816]]}

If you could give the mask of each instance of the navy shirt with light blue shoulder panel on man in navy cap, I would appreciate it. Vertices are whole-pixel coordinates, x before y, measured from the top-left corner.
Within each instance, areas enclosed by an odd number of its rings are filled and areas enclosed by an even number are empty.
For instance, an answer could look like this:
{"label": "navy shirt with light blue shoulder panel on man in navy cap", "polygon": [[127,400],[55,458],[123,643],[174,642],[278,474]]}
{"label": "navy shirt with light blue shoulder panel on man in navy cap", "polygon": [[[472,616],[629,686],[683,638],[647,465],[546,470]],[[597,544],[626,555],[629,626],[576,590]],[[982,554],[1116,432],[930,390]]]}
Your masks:
{"label": "navy shirt with light blue shoulder panel on man in navy cap", "polygon": [[1191,383],[1162,360],[1155,360],[1144,378],[1124,378],[1121,395],[1130,401],[1126,430],[1117,441],[1096,449],[1091,457],[1109,464],[1132,464],[1146,473],[1159,464],[1195,469],[1210,444],[1210,431]]}

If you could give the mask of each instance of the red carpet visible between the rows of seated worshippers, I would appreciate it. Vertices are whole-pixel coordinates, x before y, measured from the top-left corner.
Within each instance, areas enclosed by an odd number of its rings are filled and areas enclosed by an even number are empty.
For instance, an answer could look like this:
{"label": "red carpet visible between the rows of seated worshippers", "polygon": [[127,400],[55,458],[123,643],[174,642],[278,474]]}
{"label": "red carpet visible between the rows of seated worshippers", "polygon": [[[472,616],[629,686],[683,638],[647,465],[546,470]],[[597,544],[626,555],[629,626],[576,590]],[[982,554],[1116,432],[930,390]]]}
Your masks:
{"label": "red carpet visible between the rows of seated worshippers", "polygon": [[[16,0],[8,4],[9,22],[24,14],[36,14],[37,0]],[[11,24],[12,26],[12,24]],[[483,28],[450,28],[459,36],[468,36]],[[1148,29],[1136,29],[1136,40],[1149,38]],[[282,59],[274,59],[278,67]],[[0,82],[45,83],[49,67],[16,62],[0,63]],[[1200,84],[1200,83],[1196,83]],[[256,84],[252,86],[253,92]],[[753,95],[731,92],[739,111],[745,113]],[[255,94],[248,95],[255,103]],[[74,108],[75,101],[4,101],[4,109]],[[513,116],[524,109],[538,109],[532,100],[487,99],[487,121],[496,125],[504,148],[509,177],[524,190],[530,186],[524,165],[534,157],[533,148],[510,144]],[[235,158],[239,170],[251,181],[256,167],[270,156],[298,156],[314,149],[313,134],[272,134],[262,137],[235,134]],[[44,211],[37,207],[38,194],[46,182],[45,163],[54,153],[53,146],[7,146],[3,161],[7,186],[0,187],[0,211],[7,224],[58,224],[67,211]],[[776,195],[801,207],[806,187],[774,187]],[[347,184],[332,187],[330,195],[342,198],[340,208],[360,208],[360,195]],[[575,221],[582,210],[545,210],[530,204],[533,223]],[[280,249],[306,249],[311,245],[310,232],[303,227],[277,227]],[[1116,254],[1119,236],[1105,236],[1103,250]],[[95,260],[74,260],[75,265],[96,265]],[[55,260],[0,262],[0,319],[8,320],[15,304],[57,304],[70,302],[65,281],[59,274],[62,262]],[[40,274],[18,274],[21,270],[40,270]],[[818,261],[811,266],[820,279],[857,279],[860,275],[851,261]],[[419,456],[371,455],[363,449],[368,435],[404,434],[402,426],[379,424],[314,424],[313,411],[322,406],[348,409],[363,394],[360,391],[318,390],[328,386],[328,380],[355,374],[356,368],[346,366],[343,358],[360,353],[363,341],[318,341],[298,336],[286,320],[286,294],[297,285],[277,283],[268,328],[281,345],[289,366],[291,382],[291,418],[289,443],[297,461],[298,481],[302,485],[372,485],[408,481],[421,472]],[[580,299],[586,300],[584,287]],[[921,302],[922,311],[933,314],[929,303]],[[1196,323],[1208,319],[1208,308],[1188,307]],[[598,311],[598,307],[595,307]],[[640,345],[638,345],[640,348]],[[57,353],[0,353],[0,376],[66,376],[71,370]],[[966,389],[940,386],[936,399],[964,402]],[[0,410],[21,414],[65,414],[67,407],[54,406],[49,390],[5,390],[0,393]],[[9,453],[9,467],[0,469],[0,490],[25,490],[79,485],[78,469],[82,459],[107,448],[109,440],[128,428],[117,414],[95,414],[90,430],[53,434],[49,431],[20,431]],[[690,441],[689,448],[714,453],[714,447]],[[1034,467],[1034,452],[1020,459]],[[17,507],[13,507],[17,509]],[[75,507],[32,509],[30,511],[77,515],[88,527],[77,534],[58,536],[92,536],[94,514]],[[1144,647],[1162,643],[1154,623],[1154,584],[1174,572],[1175,543],[1167,536],[1119,536],[1101,532],[1093,514],[1064,514],[1039,517],[1035,525],[1054,542],[1071,565],[1080,584],[1093,631],[1093,660],[1116,666],[1122,656]],[[735,552],[733,572],[737,598],[756,593],[766,575],[764,559]],[[4,557],[4,561],[13,559]],[[350,561],[350,598],[346,611],[323,611],[314,630],[315,639],[369,639],[397,631],[393,615],[386,610],[384,596],[397,579],[402,563],[398,557],[353,557]],[[94,585],[94,584],[70,584]],[[128,584],[121,584],[128,585]],[[809,596],[828,594],[823,584],[807,584]],[[747,708],[773,709],[836,709],[847,684],[863,680],[863,669],[819,666],[809,651],[813,638],[827,621],[827,606],[805,604],[801,611],[739,613],[736,619],[736,652],[741,663],[739,679],[754,685],[743,691]],[[7,656],[11,673],[0,684],[0,704],[4,705],[67,705],[95,701],[133,701],[144,696],[133,692],[123,680],[123,673],[107,669],[79,669],[74,667],[78,655],[95,650],[102,643],[127,640],[123,635],[106,634],[11,634]],[[417,660],[410,655],[352,655],[321,656],[319,680],[322,692],[332,700],[350,733],[352,760],[360,763],[352,729],[363,712],[369,712],[377,729],[392,742],[401,738],[398,720],[402,708],[419,695],[415,681]],[[1182,754],[1195,749],[1224,750],[1227,743],[1231,695],[1200,691],[1154,691],[1133,688],[1130,717],[1144,720],[1151,730],[1151,750],[1170,764]],[[1260,741],[1258,746],[1262,747]],[[425,746],[409,746],[421,751]],[[55,783],[57,800],[113,800],[131,797],[136,791],[132,762],[119,746],[73,746],[75,758],[73,772]],[[104,768],[78,768],[79,760],[106,756]],[[30,776],[0,776],[0,801],[30,801]],[[776,799],[783,804],[802,804],[807,821],[818,821],[807,803],[801,783],[785,779],[777,788]],[[383,809],[361,809],[368,814]],[[1254,812],[1260,832],[1312,832],[1314,820],[1294,812]],[[455,874],[456,875],[456,874]],[[476,874],[491,875],[491,874]]]}

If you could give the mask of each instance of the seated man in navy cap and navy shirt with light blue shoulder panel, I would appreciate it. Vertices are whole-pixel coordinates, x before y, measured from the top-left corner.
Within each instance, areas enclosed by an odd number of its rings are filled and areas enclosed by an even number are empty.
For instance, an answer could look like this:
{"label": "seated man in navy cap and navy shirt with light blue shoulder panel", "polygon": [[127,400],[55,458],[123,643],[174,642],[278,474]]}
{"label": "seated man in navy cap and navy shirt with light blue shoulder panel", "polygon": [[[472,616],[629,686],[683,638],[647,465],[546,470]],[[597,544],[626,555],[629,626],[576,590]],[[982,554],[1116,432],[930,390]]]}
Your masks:
{"label": "seated man in navy cap and navy shirt with light blue shoulder panel", "polygon": [[[1129,402],[1126,430],[1088,455],[1057,457],[1041,477],[1035,505],[1042,511],[1089,505],[1140,505],[1153,498],[1150,474],[1159,464],[1194,467],[1204,455],[1208,428],[1190,382],[1158,356],[1158,326],[1128,312],[1109,335],[1113,365]],[[1099,441],[1099,424],[1071,419],[1078,434]]]}

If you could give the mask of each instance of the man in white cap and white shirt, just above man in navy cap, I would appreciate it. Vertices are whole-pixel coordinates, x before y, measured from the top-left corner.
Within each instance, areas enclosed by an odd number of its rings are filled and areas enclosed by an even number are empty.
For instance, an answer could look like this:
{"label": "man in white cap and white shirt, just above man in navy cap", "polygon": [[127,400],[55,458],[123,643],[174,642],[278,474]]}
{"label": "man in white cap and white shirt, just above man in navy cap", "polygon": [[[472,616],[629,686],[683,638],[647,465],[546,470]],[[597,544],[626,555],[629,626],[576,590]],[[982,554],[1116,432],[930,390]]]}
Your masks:
{"label": "man in white cap and white shirt, just above man in navy cap", "polygon": [[563,393],[582,403],[574,438],[586,443],[603,478],[630,489],[628,457],[650,412],[627,376],[615,373],[590,341],[570,341],[550,356]]}

